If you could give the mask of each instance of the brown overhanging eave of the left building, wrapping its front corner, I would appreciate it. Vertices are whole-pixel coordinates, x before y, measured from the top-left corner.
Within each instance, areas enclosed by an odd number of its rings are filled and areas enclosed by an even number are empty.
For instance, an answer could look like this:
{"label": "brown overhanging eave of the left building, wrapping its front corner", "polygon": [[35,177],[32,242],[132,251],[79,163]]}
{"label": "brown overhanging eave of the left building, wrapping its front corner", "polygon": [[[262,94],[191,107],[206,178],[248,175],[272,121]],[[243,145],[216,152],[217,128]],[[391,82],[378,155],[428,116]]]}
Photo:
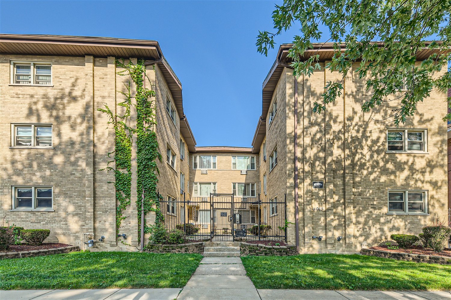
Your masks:
{"label": "brown overhanging eave of the left building, wrapping its front corner", "polygon": [[[28,47],[22,47],[21,45],[23,44],[28,44]],[[51,47],[50,49],[46,47],[44,50],[39,46],[40,44],[46,44],[47,46],[58,45],[58,47],[54,47],[53,50]],[[70,45],[70,47],[64,47],[65,45]],[[14,49],[18,48],[20,52],[14,53]],[[13,50],[11,51],[10,49]],[[144,54],[144,57],[142,57],[143,55],[140,56],[136,51],[133,51],[138,49],[140,53]],[[182,85],[166,61],[166,58],[164,58],[160,45],[156,40],[133,40],[95,36],[0,34],[0,53],[54,56],[93,55],[95,57],[114,56],[116,58],[123,56],[119,53],[124,53],[126,56],[124,58],[136,57],[147,60],[156,60],[163,56],[163,60],[157,63],[157,65],[160,67],[165,80],[168,82],[179,116],[184,116]]]}

